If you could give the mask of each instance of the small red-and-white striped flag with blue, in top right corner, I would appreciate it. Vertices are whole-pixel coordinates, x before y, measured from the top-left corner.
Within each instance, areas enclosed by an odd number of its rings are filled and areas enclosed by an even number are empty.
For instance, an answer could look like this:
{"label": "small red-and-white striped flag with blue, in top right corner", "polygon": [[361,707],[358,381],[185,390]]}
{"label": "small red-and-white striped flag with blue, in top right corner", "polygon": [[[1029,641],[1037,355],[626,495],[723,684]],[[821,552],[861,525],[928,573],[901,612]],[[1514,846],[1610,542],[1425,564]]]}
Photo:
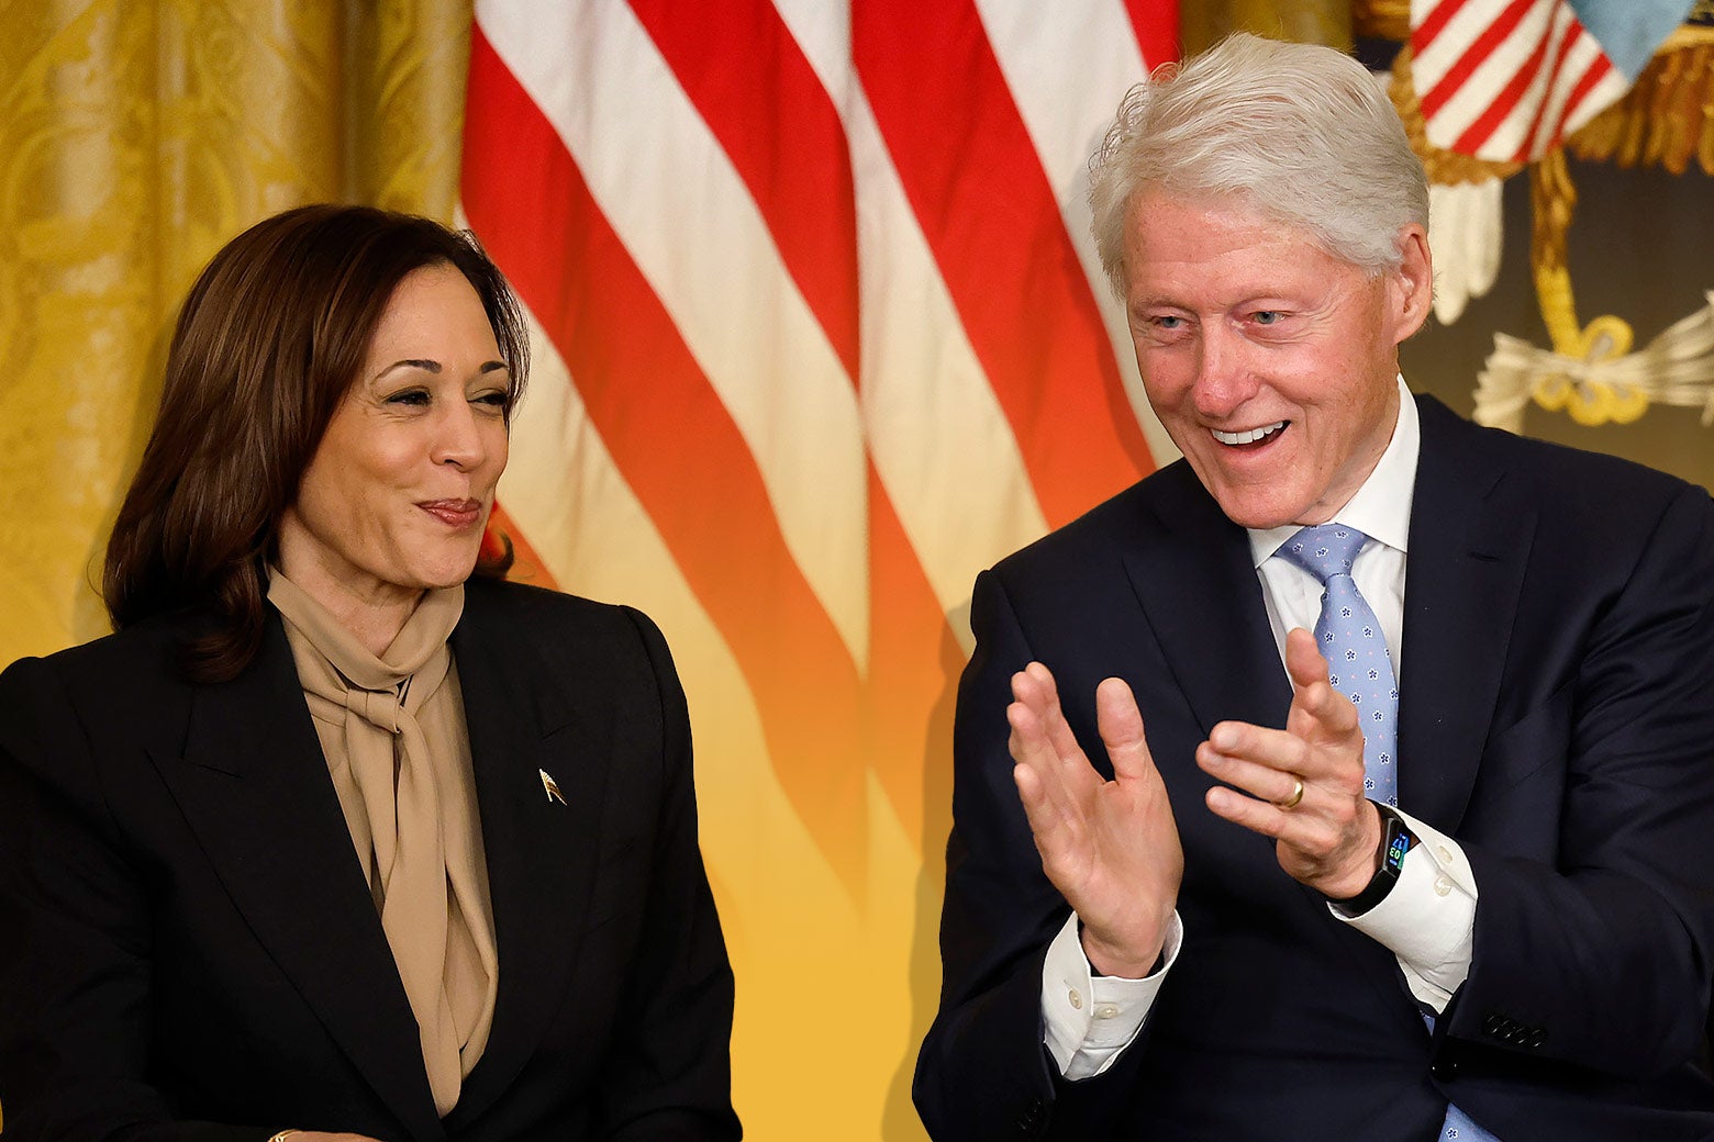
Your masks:
{"label": "small red-and-white striped flag with blue, in top right corner", "polygon": [[1428,140],[1527,163],[1637,82],[1695,0],[1411,0]]}

